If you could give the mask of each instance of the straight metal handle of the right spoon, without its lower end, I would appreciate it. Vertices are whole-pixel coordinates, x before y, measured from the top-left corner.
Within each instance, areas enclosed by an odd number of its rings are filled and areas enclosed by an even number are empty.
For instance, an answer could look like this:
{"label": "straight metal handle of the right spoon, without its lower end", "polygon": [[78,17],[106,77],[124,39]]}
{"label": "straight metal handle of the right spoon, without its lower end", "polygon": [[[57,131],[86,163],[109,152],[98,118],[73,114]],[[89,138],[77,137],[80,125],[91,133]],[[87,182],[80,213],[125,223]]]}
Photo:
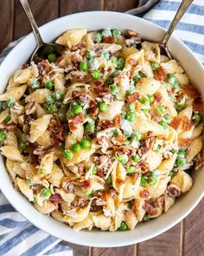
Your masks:
{"label": "straight metal handle of the right spoon, without its lower end", "polygon": [[182,3],[179,6],[179,9],[177,10],[177,12],[175,14],[175,17],[174,17],[172,23],[170,23],[169,29],[167,30],[165,36],[163,37],[162,42],[160,43],[160,45],[163,46],[164,48],[166,47],[166,44],[169,41],[169,37],[171,36],[173,31],[175,30],[175,27],[176,27],[177,23],[181,20],[182,16],[184,15],[184,13],[188,9],[189,5],[193,1],[194,0],[182,0]]}

